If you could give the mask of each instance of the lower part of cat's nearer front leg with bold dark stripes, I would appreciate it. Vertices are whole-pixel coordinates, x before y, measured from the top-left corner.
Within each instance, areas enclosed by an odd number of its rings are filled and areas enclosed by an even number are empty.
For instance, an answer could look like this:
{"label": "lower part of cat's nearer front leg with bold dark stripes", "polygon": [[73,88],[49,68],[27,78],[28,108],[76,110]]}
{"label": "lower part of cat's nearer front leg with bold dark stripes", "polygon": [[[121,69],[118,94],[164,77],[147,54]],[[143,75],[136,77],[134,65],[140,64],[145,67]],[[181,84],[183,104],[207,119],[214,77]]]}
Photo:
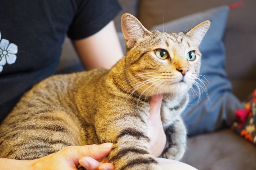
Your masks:
{"label": "lower part of cat's nearer front leg with bold dark stripes", "polygon": [[149,152],[149,138],[138,129],[123,129],[114,142],[109,160],[116,169],[160,170],[157,161]]}

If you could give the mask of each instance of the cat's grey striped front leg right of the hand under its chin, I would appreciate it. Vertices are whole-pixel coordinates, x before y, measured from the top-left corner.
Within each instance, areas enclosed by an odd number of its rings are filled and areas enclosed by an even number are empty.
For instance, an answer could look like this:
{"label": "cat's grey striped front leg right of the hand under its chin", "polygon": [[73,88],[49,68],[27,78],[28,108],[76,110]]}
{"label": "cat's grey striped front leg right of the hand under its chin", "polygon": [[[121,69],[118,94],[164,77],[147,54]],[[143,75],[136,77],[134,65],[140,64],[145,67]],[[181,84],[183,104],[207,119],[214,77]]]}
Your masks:
{"label": "cat's grey striped front leg right of the hand under its chin", "polygon": [[163,158],[180,160],[187,146],[187,130],[180,117],[166,129],[166,136],[169,146],[164,151]]}

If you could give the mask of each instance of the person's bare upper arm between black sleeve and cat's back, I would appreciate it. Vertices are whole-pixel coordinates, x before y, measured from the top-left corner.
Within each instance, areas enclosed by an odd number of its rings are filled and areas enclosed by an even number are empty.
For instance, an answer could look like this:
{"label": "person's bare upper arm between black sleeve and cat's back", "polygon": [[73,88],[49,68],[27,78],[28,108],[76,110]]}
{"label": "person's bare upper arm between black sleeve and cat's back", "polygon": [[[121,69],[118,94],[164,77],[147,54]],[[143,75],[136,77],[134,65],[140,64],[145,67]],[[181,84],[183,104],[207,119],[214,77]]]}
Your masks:
{"label": "person's bare upper arm between black sleeve and cat's back", "polygon": [[76,52],[86,69],[110,69],[123,57],[114,22],[110,21],[99,32],[80,40],[74,40]]}

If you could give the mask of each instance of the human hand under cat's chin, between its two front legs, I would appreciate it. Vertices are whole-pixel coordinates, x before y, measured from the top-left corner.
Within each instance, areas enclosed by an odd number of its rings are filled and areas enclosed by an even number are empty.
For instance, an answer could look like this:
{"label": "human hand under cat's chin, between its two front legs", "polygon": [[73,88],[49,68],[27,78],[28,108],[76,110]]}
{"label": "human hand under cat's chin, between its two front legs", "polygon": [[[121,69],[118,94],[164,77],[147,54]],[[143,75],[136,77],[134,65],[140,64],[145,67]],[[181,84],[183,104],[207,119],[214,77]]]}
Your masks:
{"label": "human hand under cat's chin, between its two front legs", "polygon": [[148,118],[148,137],[150,138],[150,152],[159,157],[166,145],[166,135],[161,121],[161,104],[163,94],[150,98],[150,116]]}

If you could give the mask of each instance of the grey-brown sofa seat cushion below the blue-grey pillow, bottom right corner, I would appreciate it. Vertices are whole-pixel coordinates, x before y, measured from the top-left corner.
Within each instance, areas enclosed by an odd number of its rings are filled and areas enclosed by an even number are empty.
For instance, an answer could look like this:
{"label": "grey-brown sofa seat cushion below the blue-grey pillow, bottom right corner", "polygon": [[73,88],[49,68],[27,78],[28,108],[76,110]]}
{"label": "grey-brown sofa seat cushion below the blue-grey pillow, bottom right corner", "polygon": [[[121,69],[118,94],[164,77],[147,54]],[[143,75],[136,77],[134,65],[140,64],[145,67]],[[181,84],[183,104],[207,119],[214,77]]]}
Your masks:
{"label": "grey-brown sofa seat cushion below the blue-grey pillow, bottom right corner", "polygon": [[256,169],[256,147],[229,129],[191,137],[181,162],[199,170]]}

